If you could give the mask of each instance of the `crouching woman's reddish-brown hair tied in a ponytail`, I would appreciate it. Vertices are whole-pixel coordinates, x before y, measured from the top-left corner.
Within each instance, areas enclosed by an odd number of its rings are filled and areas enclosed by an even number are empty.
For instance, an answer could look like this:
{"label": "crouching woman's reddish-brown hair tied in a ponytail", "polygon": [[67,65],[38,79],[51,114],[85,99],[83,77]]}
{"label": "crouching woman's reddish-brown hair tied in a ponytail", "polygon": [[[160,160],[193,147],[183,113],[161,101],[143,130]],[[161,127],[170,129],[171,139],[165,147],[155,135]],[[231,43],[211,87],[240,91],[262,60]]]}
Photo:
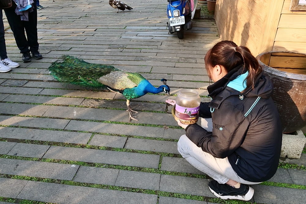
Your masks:
{"label": "crouching woman's reddish-brown hair tied in a ponytail", "polygon": [[247,47],[237,46],[233,41],[224,40],[215,44],[205,55],[205,68],[208,75],[216,65],[223,66],[228,73],[239,64],[244,64],[243,70],[248,70],[246,89],[251,86],[254,89],[255,81],[263,68],[259,66],[258,61]]}

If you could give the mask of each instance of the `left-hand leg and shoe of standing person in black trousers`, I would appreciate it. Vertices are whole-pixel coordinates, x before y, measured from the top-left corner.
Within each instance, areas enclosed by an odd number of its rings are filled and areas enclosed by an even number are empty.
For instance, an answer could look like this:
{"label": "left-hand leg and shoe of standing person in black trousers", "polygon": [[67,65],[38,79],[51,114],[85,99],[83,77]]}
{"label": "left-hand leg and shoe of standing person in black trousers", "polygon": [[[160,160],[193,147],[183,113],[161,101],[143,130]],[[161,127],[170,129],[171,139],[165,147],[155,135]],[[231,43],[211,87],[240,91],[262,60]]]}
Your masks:
{"label": "left-hand leg and shoe of standing person in black trousers", "polygon": [[13,31],[17,47],[19,48],[20,52],[23,54],[22,60],[24,62],[30,62],[31,55],[30,55],[28,40],[25,37],[24,25],[20,19],[20,16],[18,16],[15,13],[14,9],[4,9],[4,12],[9,22],[9,26]]}

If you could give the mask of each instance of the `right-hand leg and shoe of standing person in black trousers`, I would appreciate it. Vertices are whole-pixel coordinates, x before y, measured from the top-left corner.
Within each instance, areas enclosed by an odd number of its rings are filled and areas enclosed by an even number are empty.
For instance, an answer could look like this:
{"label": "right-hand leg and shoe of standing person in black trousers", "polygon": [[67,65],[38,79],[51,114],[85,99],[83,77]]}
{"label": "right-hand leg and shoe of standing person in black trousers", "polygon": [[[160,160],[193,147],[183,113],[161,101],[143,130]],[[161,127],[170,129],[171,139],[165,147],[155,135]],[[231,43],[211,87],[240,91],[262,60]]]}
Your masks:
{"label": "right-hand leg and shoe of standing person in black trousers", "polygon": [[[36,0],[34,0],[34,5],[36,5]],[[29,13],[29,21],[24,21],[25,32],[27,33],[28,43],[30,46],[30,51],[32,56],[35,59],[43,58],[41,54],[39,54],[38,48],[38,37],[37,37],[37,10],[33,9],[31,13]]]}

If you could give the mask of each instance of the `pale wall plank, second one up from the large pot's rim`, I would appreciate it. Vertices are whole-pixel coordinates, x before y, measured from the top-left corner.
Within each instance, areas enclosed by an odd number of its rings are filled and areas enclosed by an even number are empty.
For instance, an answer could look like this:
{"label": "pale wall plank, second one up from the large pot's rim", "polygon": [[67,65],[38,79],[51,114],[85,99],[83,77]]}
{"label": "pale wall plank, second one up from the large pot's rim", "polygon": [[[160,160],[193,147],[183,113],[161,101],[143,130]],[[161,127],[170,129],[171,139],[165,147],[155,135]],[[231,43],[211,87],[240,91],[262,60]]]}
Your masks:
{"label": "pale wall plank, second one up from the large pot's rim", "polygon": [[306,29],[278,28],[275,41],[306,42]]}

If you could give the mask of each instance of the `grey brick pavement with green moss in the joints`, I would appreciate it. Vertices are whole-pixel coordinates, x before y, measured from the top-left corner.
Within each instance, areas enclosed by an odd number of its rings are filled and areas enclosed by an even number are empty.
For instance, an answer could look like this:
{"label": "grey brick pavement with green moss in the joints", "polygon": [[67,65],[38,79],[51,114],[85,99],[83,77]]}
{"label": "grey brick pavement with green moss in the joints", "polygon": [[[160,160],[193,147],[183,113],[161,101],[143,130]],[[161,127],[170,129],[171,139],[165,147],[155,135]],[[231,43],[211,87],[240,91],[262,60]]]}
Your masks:
{"label": "grey brick pavement with green moss in the joints", "polygon": [[[166,1],[124,2],[134,9],[115,13],[108,1],[41,0],[44,58],[28,63],[21,62],[4,19],[8,56],[21,66],[0,74],[0,203],[223,203],[208,190],[209,177],[178,154],[184,130],[164,103],[168,96],[133,100],[139,123],[129,123],[122,96],[62,84],[48,74],[51,62],[74,55],[138,71],[156,86],[166,78],[170,98],[192,88],[209,101],[204,56],[219,41],[211,16],[195,20],[179,40],[167,31]],[[286,161],[305,165],[305,158]],[[253,185],[250,202],[305,203],[306,173],[292,167]]]}

